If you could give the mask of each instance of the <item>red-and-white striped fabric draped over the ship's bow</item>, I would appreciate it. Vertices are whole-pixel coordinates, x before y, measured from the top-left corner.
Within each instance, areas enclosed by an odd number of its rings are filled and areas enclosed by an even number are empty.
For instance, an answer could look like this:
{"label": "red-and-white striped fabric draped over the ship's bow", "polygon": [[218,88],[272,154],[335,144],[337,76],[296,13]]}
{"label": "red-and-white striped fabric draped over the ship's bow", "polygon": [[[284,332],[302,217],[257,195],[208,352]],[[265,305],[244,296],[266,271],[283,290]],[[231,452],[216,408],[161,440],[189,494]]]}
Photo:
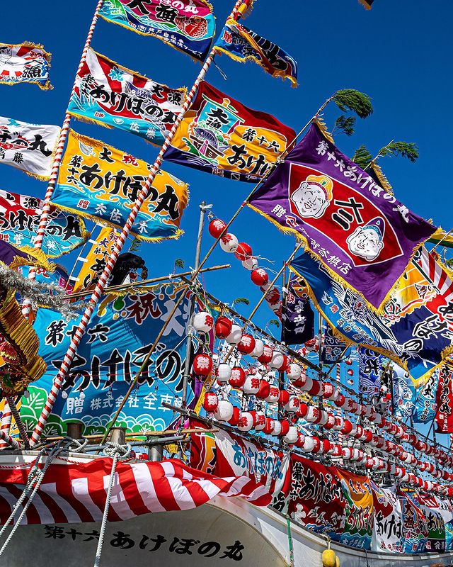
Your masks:
{"label": "red-and-white striped fabric draped over the ship's bow", "polygon": [[[112,462],[110,458],[99,458],[81,464],[51,464],[23,523],[100,522]],[[20,497],[29,470],[30,466],[0,466],[1,525]],[[217,495],[241,496],[257,506],[266,506],[271,499],[265,486],[246,476],[218,478],[195,471],[176,459],[158,463],[119,462],[108,520],[117,522],[149,512],[190,510]]]}

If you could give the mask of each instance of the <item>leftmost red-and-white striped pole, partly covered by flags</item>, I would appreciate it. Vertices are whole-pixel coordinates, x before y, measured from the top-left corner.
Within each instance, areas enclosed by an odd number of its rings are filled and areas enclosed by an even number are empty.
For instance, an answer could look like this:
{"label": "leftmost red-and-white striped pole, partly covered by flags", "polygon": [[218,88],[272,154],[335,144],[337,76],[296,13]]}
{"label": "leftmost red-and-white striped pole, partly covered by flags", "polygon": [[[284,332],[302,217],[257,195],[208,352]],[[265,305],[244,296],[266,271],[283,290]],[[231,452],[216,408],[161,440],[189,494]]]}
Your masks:
{"label": "leftmost red-and-white striped pole, partly covered by flags", "polygon": [[[82,51],[82,55],[79,62],[79,67],[77,68],[76,78],[74,79],[74,84],[72,86],[71,95],[69,96],[69,100],[71,100],[74,91],[76,89],[76,80],[77,75],[81,71],[81,68],[84,66],[84,62],[86,60],[86,54],[88,52],[88,48],[91,45],[91,38],[93,38],[94,28],[96,28],[96,22],[98,21],[99,11],[101,10],[101,6],[103,5],[104,0],[99,0],[98,5],[96,6],[96,10],[94,11],[93,19],[91,20],[91,26],[88,30],[88,35],[86,36],[86,42],[84,45],[84,50]],[[66,111],[64,115],[64,122],[62,125],[62,131],[59,135],[57,150],[55,152],[54,162],[52,164],[52,171],[50,172],[49,183],[47,184],[47,190],[45,192],[45,196],[43,199],[42,211],[40,216],[40,224],[38,226],[38,232],[36,235],[35,244],[33,245],[34,248],[41,248],[42,247],[42,240],[44,239],[45,229],[47,227],[47,219],[49,218],[50,213],[50,199],[52,198],[52,194],[55,189],[55,184],[57,184],[57,177],[59,172],[59,166],[62,162],[62,155],[63,155],[63,148],[64,144],[66,143],[68,132],[69,132],[69,124],[71,123],[71,115]],[[29,279],[35,279],[36,271],[35,269],[30,269],[28,272]],[[31,303],[28,299],[23,301],[22,306],[22,313],[25,317],[30,313]]]}

